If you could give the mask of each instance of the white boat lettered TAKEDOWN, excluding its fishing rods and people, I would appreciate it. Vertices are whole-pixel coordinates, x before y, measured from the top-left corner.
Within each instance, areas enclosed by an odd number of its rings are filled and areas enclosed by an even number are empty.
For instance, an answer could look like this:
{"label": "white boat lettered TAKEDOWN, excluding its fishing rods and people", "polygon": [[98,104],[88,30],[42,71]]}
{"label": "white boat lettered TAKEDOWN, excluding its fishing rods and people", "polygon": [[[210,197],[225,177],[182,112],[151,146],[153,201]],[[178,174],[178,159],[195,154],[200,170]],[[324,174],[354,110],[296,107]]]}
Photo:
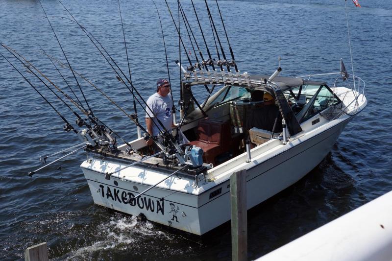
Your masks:
{"label": "white boat lettered TAKEDOWN, excluding its fishing rods and people", "polygon": [[[178,144],[184,153],[175,156],[166,149],[163,158],[143,160],[130,155],[126,144],[115,151],[99,145],[86,149],[90,156],[80,167],[94,203],[203,235],[231,218],[232,173],[246,170],[247,209],[303,178],[367,105],[365,83],[359,92],[360,86],[357,90],[335,86],[341,72],[335,73],[338,78],[332,87],[311,80],[317,75],[303,79],[274,74],[184,70],[181,131],[190,141]],[[201,107],[192,90],[204,86],[220,89]],[[244,142],[244,121],[260,103],[252,100],[256,92],[276,97],[286,126],[276,134],[251,128],[249,138],[255,147],[250,149]],[[143,137],[129,143],[146,151]]]}

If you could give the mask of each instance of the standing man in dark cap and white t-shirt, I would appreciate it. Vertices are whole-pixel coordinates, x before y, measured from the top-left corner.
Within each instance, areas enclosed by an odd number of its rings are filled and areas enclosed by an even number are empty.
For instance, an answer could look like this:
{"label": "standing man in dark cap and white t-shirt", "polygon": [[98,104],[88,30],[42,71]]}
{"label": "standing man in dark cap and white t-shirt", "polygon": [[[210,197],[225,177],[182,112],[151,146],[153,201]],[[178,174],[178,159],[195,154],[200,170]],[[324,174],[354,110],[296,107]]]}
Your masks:
{"label": "standing man in dark cap and white t-shirt", "polygon": [[152,137],[158,136],[162,130],[162,125],[159,124],[157,119],[162,122],[169,133],[172,127],[175,127],[173,124],[172,107],[173,101],[172,95],[170,94],[170,83],[166,79],[159,79],[156,82],[156,93],[147,99],[146,125],[147,131],[151,136],[146,141],[148,146],[153,144]]}

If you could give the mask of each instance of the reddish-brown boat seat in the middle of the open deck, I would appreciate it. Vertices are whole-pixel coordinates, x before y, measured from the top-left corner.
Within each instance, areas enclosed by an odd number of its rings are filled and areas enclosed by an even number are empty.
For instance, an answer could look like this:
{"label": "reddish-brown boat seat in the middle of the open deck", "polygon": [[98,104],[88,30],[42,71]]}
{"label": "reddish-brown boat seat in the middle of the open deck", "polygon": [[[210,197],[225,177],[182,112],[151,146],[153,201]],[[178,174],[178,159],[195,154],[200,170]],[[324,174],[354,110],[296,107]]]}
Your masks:
{"label": "reddish-brown boat seat in the middle of the open deck", "polygon": [[215,165],[215,158],[230,150],[231,131],[229,121],[203,119],[198,122],[197,140],[189,144],[203,149],[203,161]]}

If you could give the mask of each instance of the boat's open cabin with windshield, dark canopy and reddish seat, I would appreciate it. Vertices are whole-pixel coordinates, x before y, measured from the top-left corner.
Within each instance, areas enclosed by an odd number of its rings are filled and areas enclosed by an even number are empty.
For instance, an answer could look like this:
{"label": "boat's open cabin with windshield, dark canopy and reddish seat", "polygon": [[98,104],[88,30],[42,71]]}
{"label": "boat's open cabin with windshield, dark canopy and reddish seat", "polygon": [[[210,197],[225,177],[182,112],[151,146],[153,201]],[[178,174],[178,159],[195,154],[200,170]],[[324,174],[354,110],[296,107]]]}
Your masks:
{"label": "boat's open cabin with windshield, dark canopy and reddish seat", "polygon": [[[203,149],[204,163],[216,166],[245,152],[247,139],[253,147],[271,139],[282,139],[279,122],[282,119],[288,136],[294,136],[303,132],[303,128],[315,125],[317,122],[312,122],[315,116],[342,104],[323,82],[281,76],[267,82],[267,75],[247,75],[245,78],[240,83],[232,81],[230,84],[207,78],[184,78],[182,82],[179,124],[189,144]],[[277,112],[272,119],[274,127],[269,130],[249,122],[263,117],[259,114],[263,113],[260,108],[266,103],[263,100],[265,93],[274,98]]]}

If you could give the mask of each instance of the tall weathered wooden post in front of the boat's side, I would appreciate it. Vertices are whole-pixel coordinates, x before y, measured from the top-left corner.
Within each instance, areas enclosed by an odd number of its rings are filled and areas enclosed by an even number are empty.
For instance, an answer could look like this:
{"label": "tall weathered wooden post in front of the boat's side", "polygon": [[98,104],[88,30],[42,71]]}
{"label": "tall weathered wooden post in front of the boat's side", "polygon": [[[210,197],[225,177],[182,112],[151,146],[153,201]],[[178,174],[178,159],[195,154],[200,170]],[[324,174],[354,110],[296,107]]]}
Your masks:
{"label": "tall weathered wooden post in front of the boat's side", "polygon": [[230,177],[231,260],[247,260],[246,169]]}

